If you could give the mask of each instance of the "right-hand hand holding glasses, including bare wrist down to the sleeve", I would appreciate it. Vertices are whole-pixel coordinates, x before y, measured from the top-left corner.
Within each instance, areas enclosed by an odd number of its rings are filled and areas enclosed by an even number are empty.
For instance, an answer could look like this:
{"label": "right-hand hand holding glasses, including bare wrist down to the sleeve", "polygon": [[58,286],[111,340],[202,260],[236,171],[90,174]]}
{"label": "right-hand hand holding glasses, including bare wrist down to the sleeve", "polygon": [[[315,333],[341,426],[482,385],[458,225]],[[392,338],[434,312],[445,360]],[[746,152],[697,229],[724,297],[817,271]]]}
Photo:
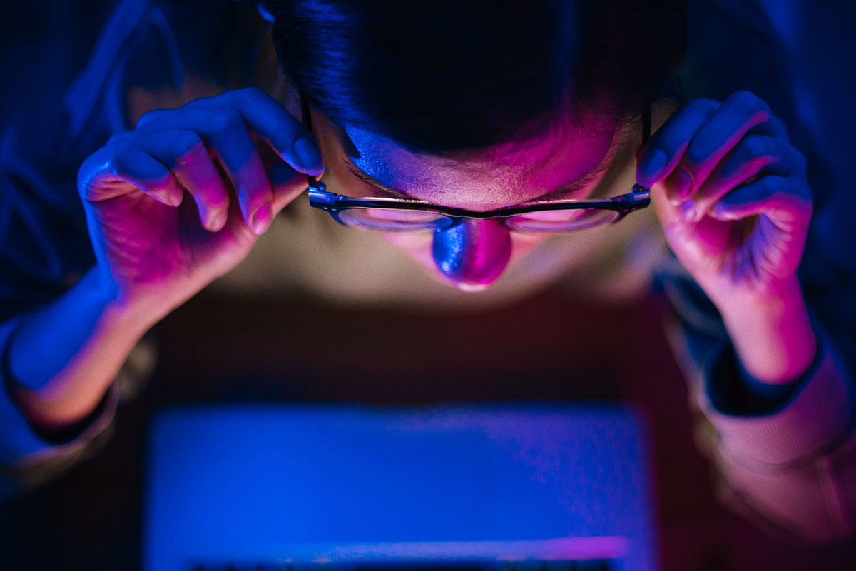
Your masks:
{"label": "right-hand hand holding glasses, including bare wrist down to the sleeve", "polygon": [[817,351],[797,281],[811,193],[782,122],[750,92],[690,101],[641,150],[636,178],[746,371],[799,378]]}

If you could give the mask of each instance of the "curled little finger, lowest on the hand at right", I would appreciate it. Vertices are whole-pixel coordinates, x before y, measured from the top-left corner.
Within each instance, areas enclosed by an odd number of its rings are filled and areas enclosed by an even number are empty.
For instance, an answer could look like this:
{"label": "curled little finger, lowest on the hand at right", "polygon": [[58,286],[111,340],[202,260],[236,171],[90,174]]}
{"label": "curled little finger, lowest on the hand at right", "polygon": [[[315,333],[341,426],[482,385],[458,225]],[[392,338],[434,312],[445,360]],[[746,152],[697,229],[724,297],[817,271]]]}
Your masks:
{"label": "curled little finger, lowest on the hand at right", "polygon": [[805,229],[811,219],[807,188],[786,176],[763,176],[723,196],[710,212],[717,220],[740,220],[755,215],[769,217],[788,232]]}

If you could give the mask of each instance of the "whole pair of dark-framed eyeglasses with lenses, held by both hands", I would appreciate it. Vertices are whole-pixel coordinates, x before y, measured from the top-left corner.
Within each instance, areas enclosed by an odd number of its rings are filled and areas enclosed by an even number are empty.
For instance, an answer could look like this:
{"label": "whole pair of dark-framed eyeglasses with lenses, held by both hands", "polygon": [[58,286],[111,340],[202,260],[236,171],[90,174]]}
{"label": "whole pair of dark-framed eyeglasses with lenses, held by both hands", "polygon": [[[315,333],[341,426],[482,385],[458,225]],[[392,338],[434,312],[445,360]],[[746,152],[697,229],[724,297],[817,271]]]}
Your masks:
{"label": "whole pair of dark-framed eyeglasses with lenses, held by both hands", "polygon": [[[303,123],[312,132],[306,98],[300,98]],[[651,136],[651,110],[642,116],[642,144]],[[309,179],[309,204],[326,211],[336,222],[384,232],[442,231],[466,220],[496,219],[508,229],[523,232],[572,232],[616,223],[630,212],[651,203],[649,189],[638,184],[633,191],[610,199],[560,199],[529,202],[492,211],[468,211],[416,199],[351,198],[329,193],[314,176]]]}

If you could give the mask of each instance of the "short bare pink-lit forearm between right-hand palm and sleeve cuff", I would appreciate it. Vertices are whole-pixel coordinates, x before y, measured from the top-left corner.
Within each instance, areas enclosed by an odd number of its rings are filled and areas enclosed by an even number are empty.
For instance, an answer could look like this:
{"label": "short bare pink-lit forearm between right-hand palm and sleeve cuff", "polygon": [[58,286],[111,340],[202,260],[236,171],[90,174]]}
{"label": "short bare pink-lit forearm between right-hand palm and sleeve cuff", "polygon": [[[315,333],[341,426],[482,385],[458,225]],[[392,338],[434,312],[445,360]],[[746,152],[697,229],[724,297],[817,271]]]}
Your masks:
{"label": "short bare pink-lit forearm between right-hand palm and sleeve cuff", "polygon": [[775,295],[734,295],[716,306],[740,364],[752,378],[788,383],[814,360],[817,338],[795,277]]}

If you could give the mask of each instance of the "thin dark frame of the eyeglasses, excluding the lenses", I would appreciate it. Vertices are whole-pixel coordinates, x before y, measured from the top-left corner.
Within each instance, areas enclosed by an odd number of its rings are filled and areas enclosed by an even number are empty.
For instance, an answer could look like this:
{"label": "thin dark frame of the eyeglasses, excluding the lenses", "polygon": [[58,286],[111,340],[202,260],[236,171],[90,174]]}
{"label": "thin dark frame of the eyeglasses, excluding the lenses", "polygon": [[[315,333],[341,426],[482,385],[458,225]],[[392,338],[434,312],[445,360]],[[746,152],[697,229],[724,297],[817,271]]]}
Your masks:
{"label": "thin dark frame of the eyeglasses, excluding the lenses", "polygon": [[[306,103],[306,97],[300,96],[300,113],[303,119],[303,125],[307,131],[312,133],[312,113],[309,104]],[[645,110],[642,114],[642,145],[651,138],[651,108]],[[420,211],[431,214],[439,214],[444,218],[437,220],[437,223],[430,229],[433,231],[442,231],[449,229],[466,220],[487,220],[498,218],[500,221],[504,218],[516,217],[522,214],[531,214],[533,212],[544,211],[560,211],[560,210],[609,210],[618,212],[618,217],[609,222],[614,224],[619,222],[627,214],[633,211],[641,210],[651,204],[651,193],[648,187],[643,187],[639,184],[633,185],[633,191],[619,196],[614,196],[608,199],[558,199],[534,201],[526,205],[505,206],[490,211],[470,211],[464,208],[454,208],[451,206],[435,205],[431,202],[419,199],[397,199],[387,197],[365,197],[352,198],[342,194],[327,192],[327,186],[324,182],[319,182],[314,175],[306,175],[309,181],[309,205],[312,208],[326,211],[330,214],[337,223],[342,226],[354,227],[354,224],[346,223],[340,217],[342,211],[352,209],[377,209],[385,210],[401,210],[401,211]],[[444,224],[444,225],[443,225]],[[598,224],[599,225],[599,224]],[[608,224],[603,224],[608,225]],[[418,231],[419,229],[401,229],[389,231]],[[580,229],[559,229],[559,230],[524,230],[520,231],[542,231],[554,234],[562,232],[574,232]]]}

